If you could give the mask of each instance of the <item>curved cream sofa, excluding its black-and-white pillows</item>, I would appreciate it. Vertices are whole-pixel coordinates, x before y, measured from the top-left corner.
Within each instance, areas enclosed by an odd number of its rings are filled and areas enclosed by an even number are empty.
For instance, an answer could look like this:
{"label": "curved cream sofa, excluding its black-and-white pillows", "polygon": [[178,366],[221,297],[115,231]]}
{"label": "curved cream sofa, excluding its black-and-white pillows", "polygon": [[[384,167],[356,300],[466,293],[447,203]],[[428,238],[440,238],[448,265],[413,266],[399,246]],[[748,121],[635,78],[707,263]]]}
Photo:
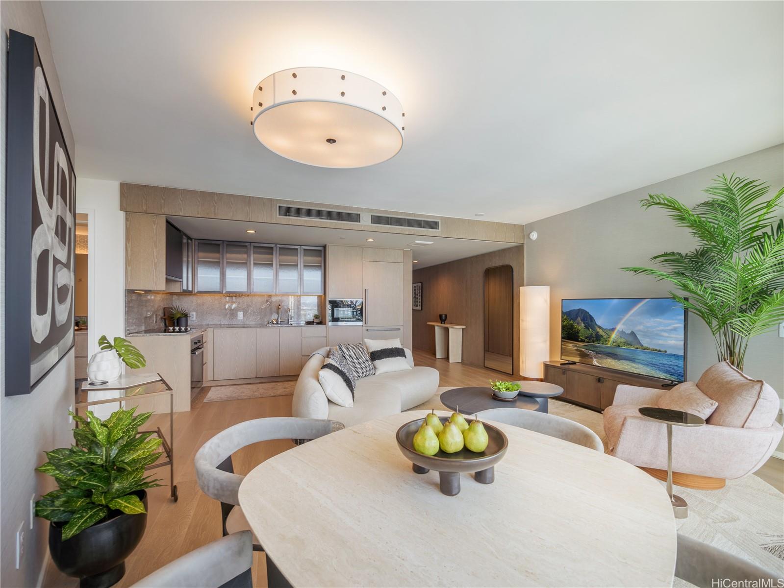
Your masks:
{"label": "curved cream sofa, excluding its black-and-white pillows", "polygon": [[433,368],[415,366],[410,350],[405,358],[411,369],[390,372],[357,380],[354,406],[346,408],[329,401],[318,382],[318,371],[324,365],[328,347],[314,353],[299,372],[292,415],[306,419],[337,420],[352,426],[382,416],[394,415],[429,400],[438,389],[438,372]]}

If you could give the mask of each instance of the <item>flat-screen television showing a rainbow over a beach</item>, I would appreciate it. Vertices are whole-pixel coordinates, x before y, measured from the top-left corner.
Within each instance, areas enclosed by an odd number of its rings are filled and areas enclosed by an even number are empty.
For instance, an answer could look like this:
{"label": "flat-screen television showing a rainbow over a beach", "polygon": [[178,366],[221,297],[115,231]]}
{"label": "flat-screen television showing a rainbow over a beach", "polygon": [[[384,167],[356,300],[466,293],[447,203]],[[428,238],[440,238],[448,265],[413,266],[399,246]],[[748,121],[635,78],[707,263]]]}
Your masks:
{"label": "flat-screen television showing a rainbow over a beach", "polygon": [[684,307],[672,298],[561,300],[561,359],[683,382]]}

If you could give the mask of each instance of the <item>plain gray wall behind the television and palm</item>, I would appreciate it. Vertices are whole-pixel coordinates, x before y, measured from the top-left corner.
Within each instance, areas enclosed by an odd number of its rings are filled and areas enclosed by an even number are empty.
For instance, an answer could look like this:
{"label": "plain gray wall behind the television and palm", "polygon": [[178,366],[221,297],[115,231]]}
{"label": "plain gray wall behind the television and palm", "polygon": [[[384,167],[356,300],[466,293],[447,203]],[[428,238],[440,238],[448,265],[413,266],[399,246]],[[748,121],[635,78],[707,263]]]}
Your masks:
{"label": "plain gray wall behind the television and palm", "polygon": [[[694,249],[686,230],[661,210],[641,209],[640,200],[667,194],[695,205],[707,198],[702,190],[713,177],[732,172],[764,180],[775,194],[784,186],[784,144],[525,225],[525,285],[550,286],[550,358],[561,353],[561,299],[667,296],[666,282],[619,267],[646,266],[657,253]],[[535,241],[528,238],[532,230],[539,234]],[[696,380],[717,361],[716,352],[698,317],[690,315],[688,331],[687,378]],[[777,332],[753,339],[744,371],[784,396],[784,339]]]}

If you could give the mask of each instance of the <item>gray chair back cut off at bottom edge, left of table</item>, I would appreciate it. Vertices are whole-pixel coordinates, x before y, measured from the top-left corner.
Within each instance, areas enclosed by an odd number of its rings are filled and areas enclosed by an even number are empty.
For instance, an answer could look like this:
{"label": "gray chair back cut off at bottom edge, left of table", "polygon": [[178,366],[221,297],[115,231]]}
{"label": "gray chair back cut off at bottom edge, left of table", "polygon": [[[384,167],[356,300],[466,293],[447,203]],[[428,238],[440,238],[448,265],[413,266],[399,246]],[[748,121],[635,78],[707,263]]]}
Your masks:
{"label": "gray chair back cut off at bottom edge, left of table", "polygon": [[252,565],[252,535],[243,531],[178,557],[131,588],[252,588]]}

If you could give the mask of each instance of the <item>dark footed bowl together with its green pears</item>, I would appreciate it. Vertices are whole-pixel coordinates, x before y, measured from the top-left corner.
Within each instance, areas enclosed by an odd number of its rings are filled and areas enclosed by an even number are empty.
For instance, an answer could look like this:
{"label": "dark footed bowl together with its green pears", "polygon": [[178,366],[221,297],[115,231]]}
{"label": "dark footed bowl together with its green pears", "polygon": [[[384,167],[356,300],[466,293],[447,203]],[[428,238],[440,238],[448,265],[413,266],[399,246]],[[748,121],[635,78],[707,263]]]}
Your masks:
{"label": "dark footed bowl together with its green pears", "polygon": [[470,422],[458,412],[412,420],[397,430],[397,447],[412,462],[416,474],[438,472],[441,492],[460,492],[460,474],[474,473],[480,484],[495,480],[495,464],[506,453],[509,441],[499,428],[474,417]]}

